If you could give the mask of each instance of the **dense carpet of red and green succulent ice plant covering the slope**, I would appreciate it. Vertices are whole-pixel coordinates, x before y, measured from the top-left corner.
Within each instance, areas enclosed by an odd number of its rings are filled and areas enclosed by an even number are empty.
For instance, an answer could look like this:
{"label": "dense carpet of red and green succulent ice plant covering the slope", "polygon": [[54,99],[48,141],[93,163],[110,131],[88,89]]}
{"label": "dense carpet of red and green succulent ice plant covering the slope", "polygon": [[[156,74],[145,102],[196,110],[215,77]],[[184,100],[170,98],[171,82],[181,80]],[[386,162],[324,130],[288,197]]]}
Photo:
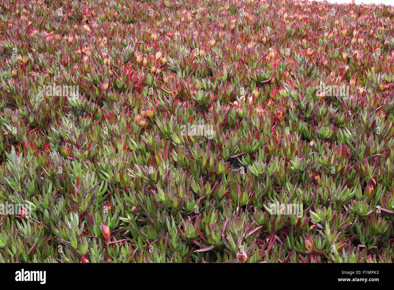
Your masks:
{"label": "dense carpet of red and green succulent ice plant covering the slope", "polygon": [[0,261],[392,262],[393,11],[1,1]]}

